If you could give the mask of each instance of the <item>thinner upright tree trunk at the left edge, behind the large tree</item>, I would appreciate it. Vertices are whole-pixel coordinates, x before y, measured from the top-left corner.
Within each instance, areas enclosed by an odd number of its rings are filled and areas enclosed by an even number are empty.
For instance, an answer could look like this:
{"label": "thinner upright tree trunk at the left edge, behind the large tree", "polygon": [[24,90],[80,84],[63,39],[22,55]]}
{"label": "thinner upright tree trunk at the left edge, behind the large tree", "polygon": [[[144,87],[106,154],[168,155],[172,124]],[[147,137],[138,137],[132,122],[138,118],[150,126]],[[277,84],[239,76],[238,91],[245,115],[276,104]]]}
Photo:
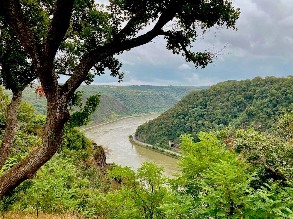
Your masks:
{"label": "thinner upright tree trunk at the left edge, behind the large tree", "polygon": [[16,112],[19,104],[21,102],[22,90],[13,92],[12,100],[7,106],[7,119],[5,132],[0,147],[0,169],[3,167],[4,163],[8,159],[8,156],[11,153],[11,148],[13,146],[13,141],[15,133],[17,131],[17,118]]}

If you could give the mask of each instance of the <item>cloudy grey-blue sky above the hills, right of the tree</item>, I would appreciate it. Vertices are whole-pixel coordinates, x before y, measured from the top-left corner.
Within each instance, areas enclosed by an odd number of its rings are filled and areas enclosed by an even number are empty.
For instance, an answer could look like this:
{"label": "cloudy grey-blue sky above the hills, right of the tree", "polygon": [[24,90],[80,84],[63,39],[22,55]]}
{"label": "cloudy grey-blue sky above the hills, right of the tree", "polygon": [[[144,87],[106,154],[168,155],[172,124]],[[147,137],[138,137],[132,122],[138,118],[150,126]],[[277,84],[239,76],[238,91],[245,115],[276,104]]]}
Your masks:
{"label": "cloudy grey-blue sky above the hills, right of the tree", "polygon": [[[97,1],[99,2],[99,1]],[[238,31],[211,29],[196,41],[193,50],[221,49],[224,56],[205,69],[194,69],[180,55],[173,55],[159,37],[118,57],[123,63],[122,83],[108,75],[96,77],[95,84],[110,85],[212,85],[225,80],[253,79],[255,76],[293,74],[293,1],[235,0],[241,10]]]}

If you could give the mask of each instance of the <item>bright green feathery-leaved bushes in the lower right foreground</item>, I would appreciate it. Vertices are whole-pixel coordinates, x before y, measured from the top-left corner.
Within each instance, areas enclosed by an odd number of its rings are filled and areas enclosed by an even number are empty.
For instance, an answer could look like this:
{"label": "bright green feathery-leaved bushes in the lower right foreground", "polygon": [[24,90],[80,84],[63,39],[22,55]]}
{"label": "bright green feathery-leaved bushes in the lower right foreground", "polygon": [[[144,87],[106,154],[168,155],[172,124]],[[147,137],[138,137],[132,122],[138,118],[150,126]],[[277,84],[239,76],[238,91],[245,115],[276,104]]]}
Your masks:
{"label": "bright green feathery-leaved bushes in the lower right foreground", "polygon": [[[247,132],[253,134],[251,130]],[[262,167],[251,164],[245,153],[238,154],[234,141],[225,140],[227,135],[231,137],[231,130],[202,132],[200,142],[196,143],[190,135],[181,135],[181,146],[185,149],[180,164],[182,175],[171,180],[171,186],[194,197],[194,216],[292,218],[293,184],[270,174],[261,176]],[[239,147],[241,142],[237,144]],[[268,150],[274,153],[274,148]],[[287,156],[287,162],[290,159]],[[290,168],[287,166],[286,171],[291,171]]]}

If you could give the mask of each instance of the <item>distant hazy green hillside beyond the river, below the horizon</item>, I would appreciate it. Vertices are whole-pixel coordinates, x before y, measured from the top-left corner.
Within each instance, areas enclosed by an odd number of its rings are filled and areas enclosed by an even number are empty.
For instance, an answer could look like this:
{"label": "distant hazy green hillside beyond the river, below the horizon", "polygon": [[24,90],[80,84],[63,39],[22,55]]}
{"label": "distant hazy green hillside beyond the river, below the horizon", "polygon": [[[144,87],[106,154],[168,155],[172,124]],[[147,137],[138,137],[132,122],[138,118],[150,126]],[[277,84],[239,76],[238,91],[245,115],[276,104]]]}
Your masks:
{"label": "distant hazy green hillside beyond the river, below the horizon", "polygon": [[[208,86],[85,86],[78,91],[84,92],[84,99],[99,93],[101,103],[91,116],[91,122],[101,122],[124,115],[149,112],[163,112],[176,104],[184,95],[192,90],[200,90]],[[5,93],[11,94],[10,91]],[[31,102],[36,112],[46,114],[46,98],[35,93],[35,88],[26,88],[23,91],[23,100]]]}

